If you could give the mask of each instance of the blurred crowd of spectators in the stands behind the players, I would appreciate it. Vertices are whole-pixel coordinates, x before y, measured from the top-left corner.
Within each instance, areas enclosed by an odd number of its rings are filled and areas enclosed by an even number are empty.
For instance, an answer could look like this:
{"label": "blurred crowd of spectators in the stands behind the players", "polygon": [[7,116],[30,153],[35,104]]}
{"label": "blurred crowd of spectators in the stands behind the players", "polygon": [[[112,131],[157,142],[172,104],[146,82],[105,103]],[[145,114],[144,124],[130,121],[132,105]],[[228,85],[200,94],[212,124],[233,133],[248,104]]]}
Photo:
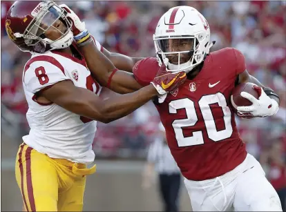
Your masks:
{"label": "blurred crowd of spectators in the stands behind the players", "polygon": [[[211,28],[211,50],[227,46],[245,55],[247,70],[280,95],[274,117],[238,119],[249,153],[260,160],[277,188],[286,187],[286,4],[285,1],[64,1],[86,22],[89,32],[111,52],[153,57],[153,32],[173,6],[193,6]],[[5,18],[12,1],[1,2],[1,108],[2,128],[21,142],[28,132],[21,75],[29,53],[8,40]],[[102,96],[115,95],[103,90]],[[98,157],[144,157],[153,142],[160,117],[150,102],[111,124],[98,123],[94,142]]]}

